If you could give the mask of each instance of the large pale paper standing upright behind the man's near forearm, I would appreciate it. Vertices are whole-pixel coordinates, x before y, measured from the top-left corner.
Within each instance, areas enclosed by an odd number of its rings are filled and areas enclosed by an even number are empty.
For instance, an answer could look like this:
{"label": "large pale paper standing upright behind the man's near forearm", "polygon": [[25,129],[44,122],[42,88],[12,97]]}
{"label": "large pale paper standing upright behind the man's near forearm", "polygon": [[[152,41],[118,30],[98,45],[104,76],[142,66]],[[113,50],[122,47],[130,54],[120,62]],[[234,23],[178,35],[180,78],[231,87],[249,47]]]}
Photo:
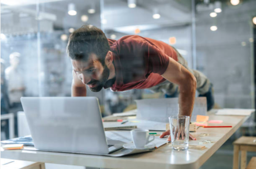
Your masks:
{"label": "large pale paper standing upright behind the man's near forearm", "polygon": [[[178,98],[136,100],[137,119],[169,123],[168,117],[179,112]],[[206,115],[206,97],[195,98],[191,121],[196,121],[196,115]]]}

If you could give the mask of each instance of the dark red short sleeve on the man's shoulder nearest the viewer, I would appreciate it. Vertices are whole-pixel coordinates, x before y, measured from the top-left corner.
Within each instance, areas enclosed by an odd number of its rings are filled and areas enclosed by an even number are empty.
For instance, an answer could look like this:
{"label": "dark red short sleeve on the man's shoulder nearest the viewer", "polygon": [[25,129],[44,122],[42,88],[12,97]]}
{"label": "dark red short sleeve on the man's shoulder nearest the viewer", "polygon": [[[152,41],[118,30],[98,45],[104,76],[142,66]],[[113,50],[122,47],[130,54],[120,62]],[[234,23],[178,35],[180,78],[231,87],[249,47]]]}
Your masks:
{"label": "dark red short sleeve on the man's shoulder nearest the viewer", "polygon": [[169,64],[169,56],[159,50],[156,46],[147,42],[144,45],[145,57],[148,60],[148,73],[157,73],[162,75]]}

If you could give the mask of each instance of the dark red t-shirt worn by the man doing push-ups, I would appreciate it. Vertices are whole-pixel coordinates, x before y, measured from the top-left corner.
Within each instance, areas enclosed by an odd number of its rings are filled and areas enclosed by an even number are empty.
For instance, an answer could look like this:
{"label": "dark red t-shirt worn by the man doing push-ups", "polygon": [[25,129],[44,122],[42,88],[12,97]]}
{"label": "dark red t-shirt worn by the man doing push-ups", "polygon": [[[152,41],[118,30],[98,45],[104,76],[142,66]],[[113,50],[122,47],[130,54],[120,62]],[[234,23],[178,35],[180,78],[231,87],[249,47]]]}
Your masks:
{"label": "dark red t-shirt worn by the man doing push-ups", "polygon": [[138,35],[118,41],[108,39],[113,53],[116,80],[113,91],[145,89],[165,81],[161,76],[168,67],[169,57],[177,61],[176,51],[167,43]]}

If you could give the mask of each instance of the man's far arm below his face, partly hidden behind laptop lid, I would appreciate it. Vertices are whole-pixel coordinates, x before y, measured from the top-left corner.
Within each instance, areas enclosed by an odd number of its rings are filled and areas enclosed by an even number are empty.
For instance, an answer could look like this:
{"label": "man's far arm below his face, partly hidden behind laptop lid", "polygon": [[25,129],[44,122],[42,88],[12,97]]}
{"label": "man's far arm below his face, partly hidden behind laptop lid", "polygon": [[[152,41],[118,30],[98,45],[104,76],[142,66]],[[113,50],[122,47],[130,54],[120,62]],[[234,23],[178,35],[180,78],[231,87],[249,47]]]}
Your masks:
{"label": "man's far arm below his face, partly hidden behind laptop lid", "polygon": [[83,82],[77,77],[76,72],[72,71],[73,81],[71,86],[71,96],[86,96],[86,86]]}

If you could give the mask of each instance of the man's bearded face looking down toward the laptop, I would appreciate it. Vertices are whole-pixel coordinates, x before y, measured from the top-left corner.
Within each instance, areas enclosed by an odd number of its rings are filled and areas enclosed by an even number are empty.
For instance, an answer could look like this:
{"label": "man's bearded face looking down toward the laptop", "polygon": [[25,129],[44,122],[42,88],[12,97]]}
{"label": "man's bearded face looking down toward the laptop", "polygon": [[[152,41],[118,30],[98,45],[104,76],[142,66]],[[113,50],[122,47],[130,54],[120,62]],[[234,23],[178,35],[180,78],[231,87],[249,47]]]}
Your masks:
{"label": "man's bearded face looking down toward the laptop", "polygon": [[95,54],[90,54],[87,61],[71,60],[71,63],[77,77],[87,84],[91,91],[100,91],[107,82],[109,69],[102,65]]}

